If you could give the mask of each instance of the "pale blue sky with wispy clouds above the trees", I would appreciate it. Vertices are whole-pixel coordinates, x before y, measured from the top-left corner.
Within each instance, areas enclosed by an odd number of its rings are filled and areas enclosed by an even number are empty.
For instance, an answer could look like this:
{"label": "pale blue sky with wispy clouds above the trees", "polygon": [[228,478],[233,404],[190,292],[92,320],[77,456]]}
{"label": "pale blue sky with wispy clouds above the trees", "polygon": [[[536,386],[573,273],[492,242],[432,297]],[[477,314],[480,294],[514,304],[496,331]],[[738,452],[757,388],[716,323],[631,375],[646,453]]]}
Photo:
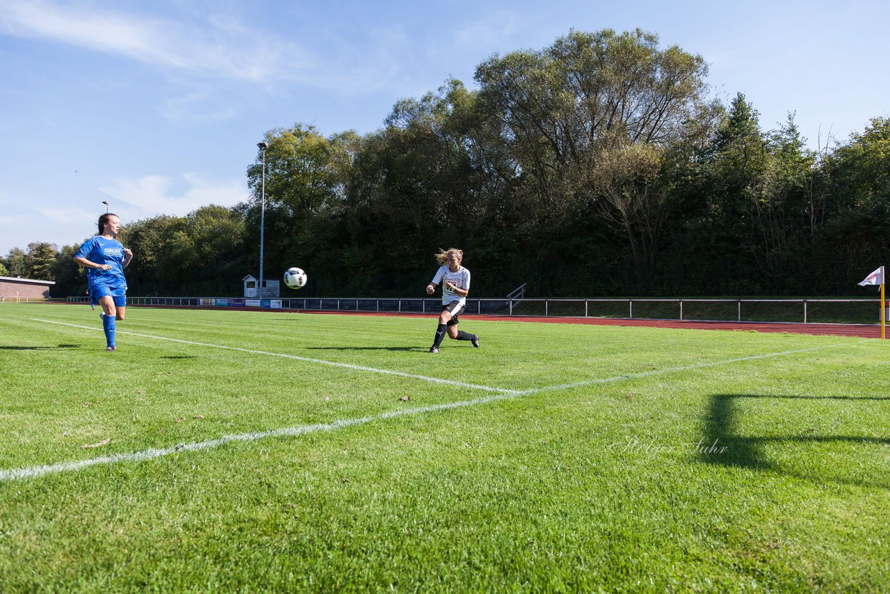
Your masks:
{"label": "pale blue sky with wispy clouds above the trees", "polygon": [[[374,131],[404,97],[570,28],[700,53],[712,94],[815,148],[890,115],[886,2],[0,0],[0,254],[247,198],[263,134]],[[138,256],[138,255],[137,255]]]}

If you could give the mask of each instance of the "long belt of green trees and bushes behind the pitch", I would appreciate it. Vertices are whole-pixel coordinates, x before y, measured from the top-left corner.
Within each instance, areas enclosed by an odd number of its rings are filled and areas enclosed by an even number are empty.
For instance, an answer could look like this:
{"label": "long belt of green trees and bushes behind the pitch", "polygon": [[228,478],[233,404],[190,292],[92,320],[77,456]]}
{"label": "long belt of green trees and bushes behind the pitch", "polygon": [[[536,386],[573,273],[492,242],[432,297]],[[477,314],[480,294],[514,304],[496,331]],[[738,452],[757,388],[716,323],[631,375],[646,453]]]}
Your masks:
{"label": "long belt of green trees and bushes behind the pitch", "polygon": [[[131,294],[239,294],[261,219],[264,277],[299,265],[311,296],[419,295],[448,247],[479,297],[860,291],[890,252],[890,120],[809,151],[793,114],[764,130],[707,74],[639,29],[571,30],[482,61],[478,90],[401,99],[374,133],[271,130],[246,202],[125,229]],[[37,245],[10,274],[50,274]],[[57,291],[79,282],[61,260]]]}

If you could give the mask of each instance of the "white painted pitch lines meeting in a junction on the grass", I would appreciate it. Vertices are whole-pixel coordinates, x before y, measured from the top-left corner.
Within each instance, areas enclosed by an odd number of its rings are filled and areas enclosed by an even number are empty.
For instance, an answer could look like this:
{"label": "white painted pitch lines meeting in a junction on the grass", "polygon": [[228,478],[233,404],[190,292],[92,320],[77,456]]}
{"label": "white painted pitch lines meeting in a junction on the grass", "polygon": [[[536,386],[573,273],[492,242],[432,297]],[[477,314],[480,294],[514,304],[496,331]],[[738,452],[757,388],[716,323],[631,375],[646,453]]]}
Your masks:
{"label": "white painted pitch lines meeting in a junction on the grass", "polygon": [[[44,320],[36,320],[36,321],[44,321]],[[51,323],[61,323],[61,322],[51,322]],[[63,324],[65,326],[73,326],[75,328],[85,328],[87,330],[94,330],[88,326],[77,326],[74,324]],[[134,334],[134,333],[129,333]],[[184,340],[178,340],[174,338],[163,338],[163,337],[150,337],[148,335],[135,334],[134,336],[142,336],[146,338],[158,338],[161,340],[174,340],[175,342],[183,342],[186,344],[198,345],[198,346],[217,346],[217,345],[207,345],[204,343],[193,343]],[[20,480],[20,479],[28,479],[28,478],[36,478],[39,476],[45,476],[50,474],[56,474],[61,472],[73,472],[80,470],[82,468],[88,468],[91,466],[101,465],[101,464],[116,464],[117,462],[137,462],[143,460],[154,460],[156,458],[161,458],[163,456],[169,456],[176,452],[195,452],[198,450],[206,450],[218,447],[225,443],[231,442],[254,442],[260,439],[265,439],[267,437],[295,437],[297,435],[304,435],[308,433],[315,433],[319,431],[334,431],[336,429],[341,429],[344,427],[354,427],[357,425],[365,425],[368,423],[372,423],[378,420],[384,419],[394,419],[397,417],[405,417],[412,415],[425,414],[427,412],[434,411],[445,411],[449,409],[457,409],[461,407],[467,406],[476,406],[480,404],[493,403],[499,400],[509,400],[520,396],[526,395],[534,395],[540,394],[542,392],[554,391],[554,390],[567,390],[575,387],[585,387],[591,386],[594,384],[608,384],[617,381],[623,381],[627,379],[634,378],[646,378],[656,375],[664,375],[667,373],[676,373],[679,371],[689,371],[689,370],[697,370],[708,367],[715,367],[718,365],[731,364],[735,362],[744,362],[744,361],[753,361],[756,359],[766,359],[771,357],[780,357],[788,354],[797,354],[797,353],[806,353],[810,351],[818,351],[827,348],[835,348],[837,346],[847,346],[854,343],[840,343],[837,345],[825,345],[825,346],[813,346],[811,348],[801,348],[792,351],[782,351],[780,353],[767,353],[767,354],[754,354],[748,357],[737,357],[734,359],[725,359],[723,361],[715,361],[715,362],[706,362],[706,363],[698,363],[696,365],[687,365],[684,367],[671,367],[665,370],[651,370],[651,371],[643,371],[640,373],[629,373],[626,375],[614,376],[611,378],[598,378],[591,379],[587,381],[575,382],[572,384],[562,384],[560,386],[550,386],[550,387],[538,387],[531,388],[529,390],[501,390],[498,388],[490,388],[490,387],[480,387],[480,389],[487,389],[489,391],[497,391],[498,394],[483,396],[481,398],[474,398],[473,400],[462,400],[457,401],[455,403],[443,403],[443,404],[433,404],[431,406],[423,406],[417,408],[404,409],[401,411],[390,411],[384,412],[383,414],[379,414],[373,417],[362,417],[358,419],[343,419],[337,420],[333,423],[322,423],[316,425],[301,425],[297,427],[285,427],[282,429],[272,429],[270,431],[262,431],[255,433],[241,433],[235,435],[223,435],[222,437],[218,437],[216,439],[208,439],[203,442],[192,442],[192,443],[180,443],[178,445],[174,445],[173,447],[156,449],[151,448],[149,450],[143,450],[142,452],[132,452],[132,453],[122,453],[115,454],[111,456],[101,456],[98,458],[91,458],[89,460],[77,460],[72,462],[59,462],[56,464],[48,464],[43,466],[32,466],[27,468],[8,468],[4,470],[0,470],[0,483],[6,481]],[[219,348],[226,348],[231,350],[245,351],[247,353],[256,353],[256,354],[272,354],[274,353],[266,353],[263,351],[250,351],[247,349],[234,348],[231,346],[217,346]],[[291,356],[291,355],[287,355]],[[302,361],[307,362],[321,362],[313,359],[303,359],[300,357],[295,357]],[[328,362],[322,362],[328,363]],[[376,371],[373,368],[363,368],[360,366],[353,365],[345,365],[339,364],[338,366],[350,367],[356,370],[370,370]],[[409,376],[412,378],[422,378],[420,376]]]}

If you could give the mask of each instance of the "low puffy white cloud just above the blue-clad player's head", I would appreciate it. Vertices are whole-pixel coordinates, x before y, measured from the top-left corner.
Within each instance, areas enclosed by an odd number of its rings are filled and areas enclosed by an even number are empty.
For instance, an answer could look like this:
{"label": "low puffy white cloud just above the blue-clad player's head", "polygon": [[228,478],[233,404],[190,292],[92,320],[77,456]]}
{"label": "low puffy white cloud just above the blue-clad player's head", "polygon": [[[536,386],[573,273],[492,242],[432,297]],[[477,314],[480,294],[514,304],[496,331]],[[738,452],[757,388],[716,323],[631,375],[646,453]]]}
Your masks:
{"label": "low puffy white cloud just above the blue-clad player's head", "polygon": [[231,207],[248,198],[244,180],[208,180],[196,174],[118,179],[101,191],[128,205],[126,212],[125,208],[116,209],[112,201],[112,210],[125,221],[156,215],[185,216],[199,207]]}

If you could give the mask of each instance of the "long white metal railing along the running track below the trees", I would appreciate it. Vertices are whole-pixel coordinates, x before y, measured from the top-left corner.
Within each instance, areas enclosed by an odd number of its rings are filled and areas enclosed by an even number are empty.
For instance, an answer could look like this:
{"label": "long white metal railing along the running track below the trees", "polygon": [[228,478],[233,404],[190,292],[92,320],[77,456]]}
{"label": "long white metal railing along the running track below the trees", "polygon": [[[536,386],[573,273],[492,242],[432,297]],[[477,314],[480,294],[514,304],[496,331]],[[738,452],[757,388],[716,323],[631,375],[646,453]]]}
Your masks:
{"label": "long white metal railing along the running track below the trees", "polygon": [[[85,303],[86,297],[69,297]],[[441,298],[127,297],[127,305],[255,307],[336,312],[438,313]],[[681,321],[863,323],[880,320],[879,299],[467,299],[466,313]]]}

